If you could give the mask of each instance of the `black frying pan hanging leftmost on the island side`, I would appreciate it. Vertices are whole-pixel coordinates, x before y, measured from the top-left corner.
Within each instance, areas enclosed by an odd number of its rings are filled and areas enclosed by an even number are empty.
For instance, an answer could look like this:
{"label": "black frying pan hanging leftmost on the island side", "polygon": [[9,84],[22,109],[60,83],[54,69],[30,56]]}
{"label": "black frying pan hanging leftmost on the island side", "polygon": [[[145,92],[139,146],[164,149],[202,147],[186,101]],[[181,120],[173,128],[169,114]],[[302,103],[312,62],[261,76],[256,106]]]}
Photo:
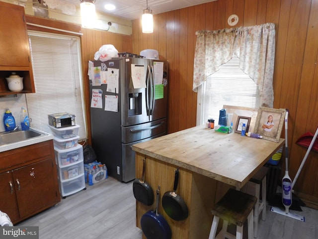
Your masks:
{"label": "black frying pan hanging leftmost on the island side", "polygon": [[136,178],[133,183],[134,197],[139,202],[145,205],[152,205],[154,203],[154,191],[151,186],[145,181],[146,159],[143,163],[143,176],[141,179]]}

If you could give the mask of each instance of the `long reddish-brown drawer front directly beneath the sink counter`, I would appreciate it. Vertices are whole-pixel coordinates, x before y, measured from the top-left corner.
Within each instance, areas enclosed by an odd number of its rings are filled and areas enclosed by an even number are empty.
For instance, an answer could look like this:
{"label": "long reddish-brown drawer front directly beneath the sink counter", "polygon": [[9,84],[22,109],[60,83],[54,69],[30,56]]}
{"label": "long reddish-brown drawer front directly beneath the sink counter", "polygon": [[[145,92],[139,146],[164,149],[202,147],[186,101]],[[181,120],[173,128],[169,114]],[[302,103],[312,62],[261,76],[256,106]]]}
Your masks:
{"label": "long reddish-brown drawer front directly beneath the sink counter", "polygon": [[17,167],[49,157],[53,151],[53,140],[32,144],[0,153],[0,172],[12,170]]}

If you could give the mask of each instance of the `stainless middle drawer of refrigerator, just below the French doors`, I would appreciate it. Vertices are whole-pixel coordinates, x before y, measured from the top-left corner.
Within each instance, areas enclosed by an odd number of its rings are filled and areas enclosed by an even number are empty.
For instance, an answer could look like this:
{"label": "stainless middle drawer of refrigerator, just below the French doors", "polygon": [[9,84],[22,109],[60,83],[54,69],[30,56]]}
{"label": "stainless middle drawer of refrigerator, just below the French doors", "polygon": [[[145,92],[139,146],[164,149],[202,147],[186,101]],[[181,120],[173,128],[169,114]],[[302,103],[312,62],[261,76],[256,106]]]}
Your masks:
{"label": "stainless middle drawer of refrigerator, just below the French doors", "polygon": [[161,133],[165,133],[166,128],[166,118],[128,127],[122,126],[122,143],[136,142],[141,139],[146,139]]}

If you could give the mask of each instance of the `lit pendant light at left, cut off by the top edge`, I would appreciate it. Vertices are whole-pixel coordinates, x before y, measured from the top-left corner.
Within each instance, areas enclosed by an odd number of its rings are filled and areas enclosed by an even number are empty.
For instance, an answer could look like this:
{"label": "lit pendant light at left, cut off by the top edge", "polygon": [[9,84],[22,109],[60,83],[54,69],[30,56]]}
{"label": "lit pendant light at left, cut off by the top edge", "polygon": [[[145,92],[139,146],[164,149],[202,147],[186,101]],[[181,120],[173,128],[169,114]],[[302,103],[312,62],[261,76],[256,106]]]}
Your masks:
{"label": "lit pendant light at left, cut off by the top edge", "polygon": [[80,0],[81,26],[93,28],[96,20],[95,0]]}

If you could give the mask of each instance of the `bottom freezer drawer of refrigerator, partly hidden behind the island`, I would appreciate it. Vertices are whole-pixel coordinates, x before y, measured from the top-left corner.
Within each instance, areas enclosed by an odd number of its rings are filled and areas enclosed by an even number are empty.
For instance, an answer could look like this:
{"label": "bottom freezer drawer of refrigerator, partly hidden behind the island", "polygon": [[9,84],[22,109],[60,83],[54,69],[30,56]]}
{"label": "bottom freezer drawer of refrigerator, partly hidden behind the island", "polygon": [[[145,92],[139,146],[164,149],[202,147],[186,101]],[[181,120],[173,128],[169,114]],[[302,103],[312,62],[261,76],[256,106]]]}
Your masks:
{"label": "bottom freezer drawer of refrigerator, partly hidden behind the island", "polygon": [[134,180],[136,178],[136,169],[135,169],[135,151],[132,150],[132,145],[136,144],[136,143],[141,143],[153,138],[157,138],[160,136],[165,135],[166,133],[160,133],[156,136],[150,137],[150,138],[146,138],[143,140],[139,140],[137,142],[133,142],[133,143],[128,143],[128,144],[124,144],[122,143],[122,168],[121,170],[117,169],[117,174],[121,173],[122,174],[122,181],[123,182],[129,182],[131,180]]}

